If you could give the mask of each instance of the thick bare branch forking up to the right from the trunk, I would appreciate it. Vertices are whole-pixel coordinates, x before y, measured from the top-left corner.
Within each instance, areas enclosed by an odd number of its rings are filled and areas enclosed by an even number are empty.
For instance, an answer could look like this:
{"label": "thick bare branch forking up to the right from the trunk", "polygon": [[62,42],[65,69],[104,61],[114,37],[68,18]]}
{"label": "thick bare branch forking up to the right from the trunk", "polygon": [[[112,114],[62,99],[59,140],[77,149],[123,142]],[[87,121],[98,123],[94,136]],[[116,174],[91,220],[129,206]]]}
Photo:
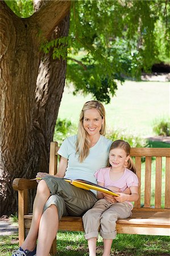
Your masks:
{"label": "thick bare branch forking up to the right from the trunk", "polygon": [[55,27],[69,13],[70,7],[71,1],[43,1],[40,9],[29,19],[39,28],[41,36],[48,39]]}

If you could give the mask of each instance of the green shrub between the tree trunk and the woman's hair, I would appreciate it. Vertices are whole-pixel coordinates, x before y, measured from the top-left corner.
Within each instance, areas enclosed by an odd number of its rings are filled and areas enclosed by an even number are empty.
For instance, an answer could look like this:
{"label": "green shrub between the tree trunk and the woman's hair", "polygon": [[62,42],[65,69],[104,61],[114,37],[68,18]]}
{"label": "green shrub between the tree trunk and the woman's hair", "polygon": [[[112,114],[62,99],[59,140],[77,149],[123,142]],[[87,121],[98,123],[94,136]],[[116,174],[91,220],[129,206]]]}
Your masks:
{"label": "green shrub between the tree trunk and the woman's hair", "polygon": [[53,136],[53,141],[57,141],[59,146],[64,141],[65,138],[77,134],[77,127],[68,119],[57,119],[55,126],[55,133]]}

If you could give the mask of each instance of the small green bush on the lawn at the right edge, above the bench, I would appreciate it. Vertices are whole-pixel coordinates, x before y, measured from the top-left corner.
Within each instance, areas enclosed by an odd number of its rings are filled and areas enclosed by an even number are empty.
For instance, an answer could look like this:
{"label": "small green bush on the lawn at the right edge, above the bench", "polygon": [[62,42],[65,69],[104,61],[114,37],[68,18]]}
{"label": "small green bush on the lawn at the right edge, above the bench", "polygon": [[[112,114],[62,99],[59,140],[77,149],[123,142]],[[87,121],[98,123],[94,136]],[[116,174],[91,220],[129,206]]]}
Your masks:
{"label": "small green bush on the lawn at the right edge, above the bench", "polygon": [[153,131],[157,135],[170,136],[170,119],[161,119],[160,121],[156,120]]}

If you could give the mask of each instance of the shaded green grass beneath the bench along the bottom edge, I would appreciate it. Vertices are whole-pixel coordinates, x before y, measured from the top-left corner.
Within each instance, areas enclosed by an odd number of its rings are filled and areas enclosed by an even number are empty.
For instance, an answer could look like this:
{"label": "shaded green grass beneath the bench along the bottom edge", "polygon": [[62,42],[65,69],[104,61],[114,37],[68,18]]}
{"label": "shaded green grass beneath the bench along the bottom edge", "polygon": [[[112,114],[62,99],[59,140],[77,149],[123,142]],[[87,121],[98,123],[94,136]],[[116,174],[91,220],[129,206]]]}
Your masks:
{"label": "shaded green grass beneath the bench along the bottom edge", "polygon": [[[0,255],[11,256],[18,249],[18,234],[0,236]],[[102,255],[103,243],[99,237],[97,255]],[[83,232],[59,232],[57,235],[56,256],[88,256],[88,245]],[[170,237],[118,234],[113,241],[111,256],[168,256]]]}

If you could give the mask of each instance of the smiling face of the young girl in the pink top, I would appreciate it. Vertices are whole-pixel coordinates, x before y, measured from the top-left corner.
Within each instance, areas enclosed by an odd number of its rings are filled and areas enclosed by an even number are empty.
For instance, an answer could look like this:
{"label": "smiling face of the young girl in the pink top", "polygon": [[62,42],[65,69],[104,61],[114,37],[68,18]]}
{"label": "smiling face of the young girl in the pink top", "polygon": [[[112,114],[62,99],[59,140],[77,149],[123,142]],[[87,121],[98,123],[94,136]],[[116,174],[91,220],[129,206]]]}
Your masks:
{"label": "smiling face of the young girl in the pink top", "polygon": [[109,152],[109,163],[113,168],[123,168],[125,167],[129,157],[130,156],[127,156],[125,150],[122,148],[113,148]]}

